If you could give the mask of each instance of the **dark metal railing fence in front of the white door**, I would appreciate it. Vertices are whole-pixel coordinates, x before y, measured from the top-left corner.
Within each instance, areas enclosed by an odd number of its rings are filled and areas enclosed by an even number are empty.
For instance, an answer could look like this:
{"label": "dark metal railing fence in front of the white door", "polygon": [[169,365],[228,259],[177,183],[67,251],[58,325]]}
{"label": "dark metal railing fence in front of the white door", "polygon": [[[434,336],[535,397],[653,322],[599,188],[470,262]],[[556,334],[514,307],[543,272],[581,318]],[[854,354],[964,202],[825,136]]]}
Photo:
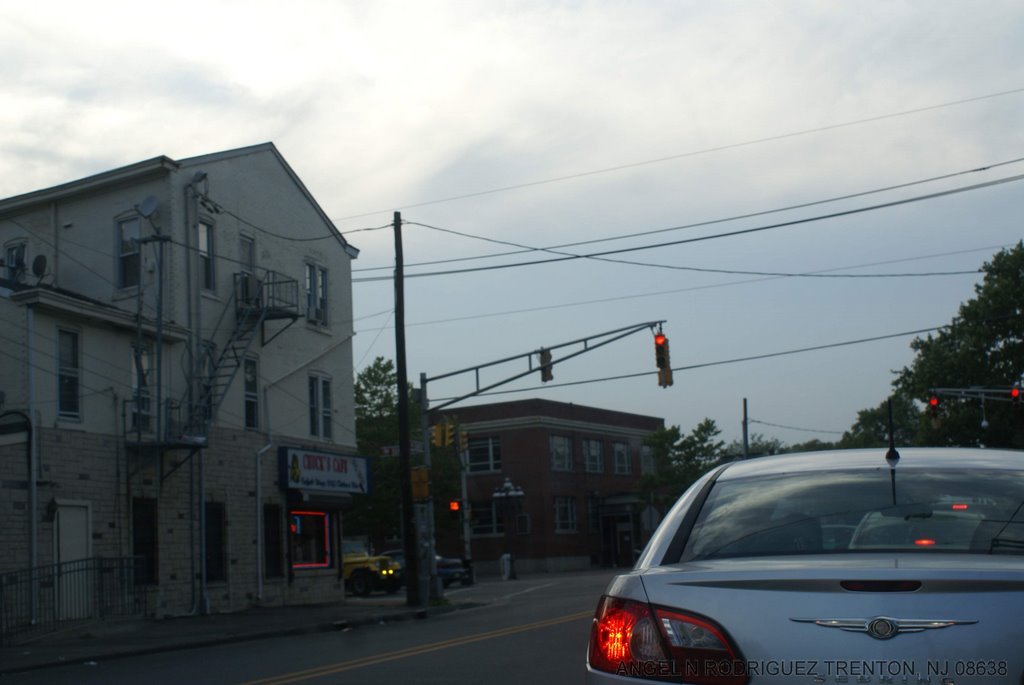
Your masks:
{"label": "dark metal railing fence in front of the white door", "polygon": [[78,622],[142,615],[137,557],[92,557],[0,573],[0,646]]}

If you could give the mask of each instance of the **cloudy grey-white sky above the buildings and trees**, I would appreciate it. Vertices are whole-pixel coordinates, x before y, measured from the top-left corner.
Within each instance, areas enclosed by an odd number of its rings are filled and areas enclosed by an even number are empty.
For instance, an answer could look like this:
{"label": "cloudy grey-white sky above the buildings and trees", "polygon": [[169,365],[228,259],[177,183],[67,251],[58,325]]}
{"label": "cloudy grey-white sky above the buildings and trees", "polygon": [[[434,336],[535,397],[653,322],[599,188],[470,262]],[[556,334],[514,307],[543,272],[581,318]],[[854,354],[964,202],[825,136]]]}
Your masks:
{"label": "cloudy grey-white sky above the buildings and trees", "polygon": [[835,439],[1022,238],[1018,0],[156,4],[0,5],[0,197],[272,141],[361,250],[356,370],[400,210],[414,380],[665,319],[672,388],[643,331],[485,399]]}

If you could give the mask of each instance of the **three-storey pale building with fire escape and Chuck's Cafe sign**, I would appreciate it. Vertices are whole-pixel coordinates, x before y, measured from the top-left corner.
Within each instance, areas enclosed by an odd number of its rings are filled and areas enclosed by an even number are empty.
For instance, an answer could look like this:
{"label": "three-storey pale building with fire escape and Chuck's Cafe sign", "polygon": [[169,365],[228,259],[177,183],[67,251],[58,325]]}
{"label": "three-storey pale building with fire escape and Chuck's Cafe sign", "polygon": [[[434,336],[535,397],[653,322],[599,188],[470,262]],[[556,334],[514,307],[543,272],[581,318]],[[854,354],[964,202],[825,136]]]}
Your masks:
{"label": "three-storey pale building with fire escape and Chuck's Cafe sign", "polygon": [[357,251],[274,145],[0,200],[0,573],[135,557],[156,615],[343,597]]}

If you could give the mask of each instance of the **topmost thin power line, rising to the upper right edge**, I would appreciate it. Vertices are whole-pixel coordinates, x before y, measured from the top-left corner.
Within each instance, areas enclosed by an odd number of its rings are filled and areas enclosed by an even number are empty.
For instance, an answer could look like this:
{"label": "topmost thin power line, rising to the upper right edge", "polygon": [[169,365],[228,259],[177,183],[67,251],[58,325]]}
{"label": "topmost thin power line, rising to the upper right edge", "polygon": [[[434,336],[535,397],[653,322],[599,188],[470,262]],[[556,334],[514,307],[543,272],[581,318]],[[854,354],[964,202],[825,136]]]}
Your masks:
{"label": "topmost thin power line, rising to the upper right edge", "polygon": [[[549,183],[559,183],[559,182],[562,182],[562,181],[574,180],[574,179],[578,179],[578,178],[586,178],[588,176],[597,176],[597,175],[600,175],[600,174],[613,173],[613,172],[616,172],[616,171],[625,171],[627,169],[635,169],[635,168],[638,168],[638,167],[648,166],[648,165],[651,165],[651,164],[660,164],[663,162],[672,162],[672,161],[675,161],[675,160],[681,160],[681,159],[685,159],[685,158],[689,158],[689,157],[697,157],[699,155],[709,155],[709,154],[712,154],[712,153],[720,153],[720,152],[727,151],[727,149],[735,149],[737,147],[745,147],[745,146],[749,146],[749,145],[756,145],[756,144],[760,144],[760,143],[763,143],[763,142],[772,142],[772,141],[775,141],[775,140],[784,140],[786,138],[796,138],[796,137],[799,137],[799,136],[810,135],[812,133],[822,133],[824,131],[831,131],[831,130],[836,130],[836,129],[840,129],[840,128],[846,128],[846,127],[849,127],[849,126],[858,126],[858,125],[861,125],[861,124],[868,124],[868,123],[884,121],[886,119],[895,119],[897,117],[906,117],[906,116],[909,116],[909,115],[921,114],[923,112],[931,112],[933,110],[940,110],[940,109],[943,109],[943,108],[955,106],[955,105],[958,105],[958,104],[968,104],[970,102],[978,102],[978,101],[981,101],[981,100],[991,99],[993,97],[1002,97],[1002,96],[1006,96],[1006,95],[1014,95],[1014,94],[1017,94],[1017,93],[1020,93],[1020,92],[1024,92],[1024,88],[1014,88],[1014,89],[1011,89],[1011,90],[1004,90],[1004,91],[999,91],[999,92],[995,92],[995,93],[987,93],[985,95],[978,95],[976,97],[968,97],[968,98],[964,98],[964,99],[959,99],[959,100],[951,100],[949,102],[941,102],[939,104],[931,104],[931,105],[927,105],[927,106],[923,106],[923,108],[915,108],[915,109],[912,109],[912,110],[903,110],[901,112],[893,112],[893,113],[889,113],[889,114],[885,114],[885,115],[879,115],[877,117],[866,117],[866,118],[863,118],[863,119],[855,119],[855,120],[852,120],[852,121],[841,122],[841,123],[838,123],[838,124],[828,124],[828,125],[825,125],[825,126],[818,126],[818,127],[815,127],[815,128],[808,128],[808,129],[803,129],[803,130],[800,130],[800,131],[791,131],[788,133],[779,133],[779,134],[776,134],[776,135],[770,135],[770,136],[766,136],[766,137],[763,137],[763,138],[754,138],[754,139],[744,140],[744,141],[741,141],[741,142],[734,142],[734,143],[728,143],[728,144],[724,144],[724,145],[717,145],[717,146],[714,146],[714,147],[705,147],[702,149],[691,151],[691,152],[688,152],[688,153],[680,153],[678,155],[670,155],[668,157],[658,157],[658,158],[655,158],[655,159],[644,160],[644,161],[641,161],[641,162],[630,162],[630,163],[627,163],[627,164],[620,164],[620,165],[616,165],[616,166],[613,166],[613,167],[605,167],[603,169],[594,169],[594,170],[591,170],[591,171],[583,171],[583,172],[578,172],[578,173],[572,173],[572,174],[566,174],[564,176],[554,176],[552,178],[546,178],[546,179],[537,180],[537,181],[527,181],[525,183],[516,183],[516,184],[513,184],[513,185],[503,185],[503,186],[500,186],[500,187],[488,188],[486,190],[477,190],[475,192],[466,192],[466,194],[463,194],[463,195],[451,196],[451,197],[447,197],[447,198],[440,198],[438,200],[428,200],[428,201],[425,201],[425,202],[419,202],[419,203],[415,203],[415,204],[412,204],[412,205],[403,205],[401,207],[398,207],[397,209],[409,210],[409,209],[415,209],[415,208],[418,208],[418,207],[428,207],[430,205],[439,205],[441,203],[455,202],[455,201],[458,201],[458,200],[469,200],[471,198],[479,198],[479,197],[482,197],[482,196],[495,195],[495,194],[498,194],[498,192],[507,192],[509,190],[519,190],[519,189],[522,189],[522,188],[534,187],[534,186],[538,186],[538,185],[546,185],[546,184],[549,184]],[[380,213],[385,212],[385,211],[391,211],[391,210],[377,210],[376,212],[364,212],[362,214],[352,214],[352,215],[349,215],[349,216],[340,217],[338,219],[333,219],[333,221],[347,221],[349,219],[358,219],[358,218],[362,218],[365,216],[373,216],[375,214],[380,214]]]}

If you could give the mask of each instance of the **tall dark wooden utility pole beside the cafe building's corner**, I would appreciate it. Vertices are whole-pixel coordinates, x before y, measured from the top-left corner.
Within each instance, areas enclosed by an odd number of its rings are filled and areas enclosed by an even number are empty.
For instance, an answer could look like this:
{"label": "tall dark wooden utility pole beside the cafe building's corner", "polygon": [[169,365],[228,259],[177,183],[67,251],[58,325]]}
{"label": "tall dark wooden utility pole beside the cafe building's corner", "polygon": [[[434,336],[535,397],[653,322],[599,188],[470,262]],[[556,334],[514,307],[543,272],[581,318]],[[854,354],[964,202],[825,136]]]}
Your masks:
{"label": "tall dark wooden utility pole beside the cafe building's corner", "polygon": [[401,212],[394,213],[394,355],[398,376],[398,478],[401,486],[401,532],[406,551],[406,603],[423,605],[419,584],[419,537],[410,471],[409,373],[406,370],[406,272],[401,252]]}

